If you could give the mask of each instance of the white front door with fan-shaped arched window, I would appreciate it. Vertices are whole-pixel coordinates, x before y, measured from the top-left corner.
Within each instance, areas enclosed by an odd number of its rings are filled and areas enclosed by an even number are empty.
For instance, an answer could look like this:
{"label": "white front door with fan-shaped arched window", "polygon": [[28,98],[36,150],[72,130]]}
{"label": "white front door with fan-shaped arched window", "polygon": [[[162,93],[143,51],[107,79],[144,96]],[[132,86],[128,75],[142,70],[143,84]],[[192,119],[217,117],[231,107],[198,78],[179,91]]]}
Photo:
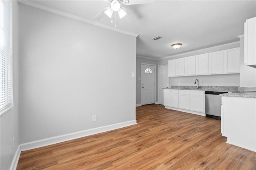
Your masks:
{"label": "white front door with fan-shaped arched window", "polygon": [[141,65],[142,105],[155,103],[155,65]]}

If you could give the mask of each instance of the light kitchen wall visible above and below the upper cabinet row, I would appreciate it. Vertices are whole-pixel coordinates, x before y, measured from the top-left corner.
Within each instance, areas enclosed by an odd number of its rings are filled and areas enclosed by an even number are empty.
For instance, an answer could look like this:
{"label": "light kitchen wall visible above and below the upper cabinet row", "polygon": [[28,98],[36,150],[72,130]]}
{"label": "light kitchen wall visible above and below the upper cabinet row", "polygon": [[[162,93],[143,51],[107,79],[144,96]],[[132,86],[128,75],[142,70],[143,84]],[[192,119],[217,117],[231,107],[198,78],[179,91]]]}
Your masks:
{"label": "light kitchen wall visible above and below the upper cabinet row", "polygon": [[[238,39],[239,41],[239,39]],[[181,53],[179,55],[166,57],[165,59],[158,60],[158,65],[168,64],[168,60],[189,57],[193,55],[200,55],[214,51],[239,47],[240,43],[233,43],[230,45],[216,46],[212,48],[202,49],[198,51],[191,51],[188,53]],[[182,47],[181,47],[182,48]],[[195,85],[195,79],[199,79],[199,84],[202,86],[239,86],[239,74],[226,74],[226,75],[200,75],[200,76],[185,76],[185,77],[170,77],[170,85]]]}

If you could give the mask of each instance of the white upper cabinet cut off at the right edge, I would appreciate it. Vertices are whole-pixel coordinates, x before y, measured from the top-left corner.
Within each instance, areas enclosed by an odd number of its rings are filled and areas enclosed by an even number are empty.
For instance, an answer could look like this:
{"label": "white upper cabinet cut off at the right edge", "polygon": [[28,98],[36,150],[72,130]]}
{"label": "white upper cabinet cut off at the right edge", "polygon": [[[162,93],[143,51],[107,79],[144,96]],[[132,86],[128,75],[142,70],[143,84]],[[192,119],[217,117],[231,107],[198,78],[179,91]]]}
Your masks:
{"label": "white upper cabinet cut off at the right edge", "polygon": [[244,23],[244,63],[256,68],[256,17]]}

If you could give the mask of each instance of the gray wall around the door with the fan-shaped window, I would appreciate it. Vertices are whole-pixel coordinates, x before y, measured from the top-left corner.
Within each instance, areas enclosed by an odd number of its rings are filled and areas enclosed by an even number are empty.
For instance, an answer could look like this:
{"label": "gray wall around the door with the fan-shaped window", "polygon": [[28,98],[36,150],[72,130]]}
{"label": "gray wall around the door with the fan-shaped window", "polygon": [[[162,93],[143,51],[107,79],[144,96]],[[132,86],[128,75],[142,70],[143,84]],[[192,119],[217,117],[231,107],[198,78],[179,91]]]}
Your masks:
{"label": "gray wall around the door with the fan-shaped window", "polygon": [[[157,64],[156,60],[136,57],[136,104],[141,104],[141,63]],[[158,66],[156,65],[156,101],[158,101]]]}

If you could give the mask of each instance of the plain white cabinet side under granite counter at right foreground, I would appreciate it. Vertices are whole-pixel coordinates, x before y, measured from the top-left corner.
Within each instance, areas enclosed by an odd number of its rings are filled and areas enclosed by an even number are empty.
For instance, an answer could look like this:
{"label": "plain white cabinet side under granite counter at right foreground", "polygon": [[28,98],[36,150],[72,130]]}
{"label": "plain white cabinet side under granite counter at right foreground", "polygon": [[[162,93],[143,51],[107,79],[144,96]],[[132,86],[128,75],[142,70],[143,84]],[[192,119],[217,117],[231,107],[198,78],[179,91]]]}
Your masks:
{"label": "plain white cabinet side under granite counter at right foreground", "polygon": [[256,98],[222,97],[221,132],[227,143],[256,152]]}

